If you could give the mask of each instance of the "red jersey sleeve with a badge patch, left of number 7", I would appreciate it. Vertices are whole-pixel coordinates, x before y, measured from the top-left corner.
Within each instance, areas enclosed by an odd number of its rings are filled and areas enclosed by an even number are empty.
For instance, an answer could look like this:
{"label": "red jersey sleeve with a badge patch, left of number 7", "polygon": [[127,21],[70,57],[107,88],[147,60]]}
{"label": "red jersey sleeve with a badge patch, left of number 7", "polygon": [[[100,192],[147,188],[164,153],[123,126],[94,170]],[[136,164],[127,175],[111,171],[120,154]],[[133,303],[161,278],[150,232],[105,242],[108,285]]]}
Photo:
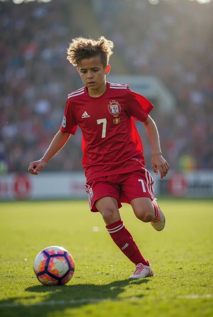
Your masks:
{"label": "red jersey sleeve with a badge patch, left of number 7", "polygon": [[67,100],[60,131],[62,133],[75,134],[77,126],[78,124],[74,114],[74,109],[71,105],[70,100]]}

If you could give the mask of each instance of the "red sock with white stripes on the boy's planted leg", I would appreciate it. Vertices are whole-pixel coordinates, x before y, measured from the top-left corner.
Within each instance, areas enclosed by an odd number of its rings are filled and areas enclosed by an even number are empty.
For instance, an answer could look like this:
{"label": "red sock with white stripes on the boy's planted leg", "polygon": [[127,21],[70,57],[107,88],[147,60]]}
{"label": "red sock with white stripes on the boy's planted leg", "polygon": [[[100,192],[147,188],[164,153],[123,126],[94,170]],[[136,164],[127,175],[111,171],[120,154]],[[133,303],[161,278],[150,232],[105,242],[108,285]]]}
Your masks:
{"label": "red sock with white stripes on the boy's planted leg", "polygon": [[130,259],[135,265],[143,263],[149,266],[149,262],[140,253],[139,248],[134,242],[131,233],[125,228],[123,221],[119,220],[106,226],[111,238],[119,249]]}

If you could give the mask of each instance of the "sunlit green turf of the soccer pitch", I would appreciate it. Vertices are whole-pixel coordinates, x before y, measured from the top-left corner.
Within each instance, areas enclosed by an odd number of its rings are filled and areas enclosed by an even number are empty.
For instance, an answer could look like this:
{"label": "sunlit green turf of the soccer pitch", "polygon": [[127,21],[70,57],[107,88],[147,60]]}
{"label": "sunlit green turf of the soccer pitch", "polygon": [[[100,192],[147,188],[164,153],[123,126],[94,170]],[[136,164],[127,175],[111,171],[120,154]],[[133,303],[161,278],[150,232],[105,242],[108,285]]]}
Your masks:
{"label": "sunlit green turf of the soccer pitch", "polygon": [[[121,209],[154,270],[152,278],[129,281],[134,265],[87,202],[1,203],[0,316],[212,316],[213,201],[159,204],[166,216],[162,232],[137,220],[130,206]],[[45,287],[34,276],[34,257],[50,245],[74,257],[67,286]]]}

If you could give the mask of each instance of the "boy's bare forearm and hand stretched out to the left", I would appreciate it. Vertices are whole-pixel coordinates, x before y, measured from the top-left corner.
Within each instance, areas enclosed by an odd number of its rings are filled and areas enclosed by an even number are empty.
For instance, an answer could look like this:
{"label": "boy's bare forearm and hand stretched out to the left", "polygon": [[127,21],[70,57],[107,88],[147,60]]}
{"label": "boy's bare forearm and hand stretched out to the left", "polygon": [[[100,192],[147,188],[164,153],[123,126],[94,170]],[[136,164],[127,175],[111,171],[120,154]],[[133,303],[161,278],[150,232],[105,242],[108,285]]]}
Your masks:
{"label": "boy's bare forearm and hand stretched out to the left", "polygon": [[54,155],[58,151],[61,150],[61,148],[65,145],[65,143],[67,142],[69,137],[70,137],[70,133],[62,133],[61,131],[59,131],[55,135],[52,142],[50,143],[50,146],[48,147],[48,150],[44,154],[42,159],[40,159],[39,161],[35,161],[35,162],[30,163],[29,169],[28,169],[29,173],[34,174],[34,175],[38,175],[39,170],[41,170],[47,164],[47,162],[50,159],[52,159],[52,157],[54,157]]}

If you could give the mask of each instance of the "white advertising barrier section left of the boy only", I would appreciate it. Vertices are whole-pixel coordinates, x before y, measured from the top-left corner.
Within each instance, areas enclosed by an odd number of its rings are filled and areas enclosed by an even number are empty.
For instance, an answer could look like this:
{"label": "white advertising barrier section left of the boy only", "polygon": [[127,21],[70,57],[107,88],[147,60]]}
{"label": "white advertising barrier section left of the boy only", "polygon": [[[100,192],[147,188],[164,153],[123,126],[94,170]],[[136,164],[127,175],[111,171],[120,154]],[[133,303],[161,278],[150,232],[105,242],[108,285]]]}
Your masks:
{"label": "white advertising barrier section left of the boy only", "polygon": [[88,198],[83,173],[8,174],[0,176],[0,200]]}

